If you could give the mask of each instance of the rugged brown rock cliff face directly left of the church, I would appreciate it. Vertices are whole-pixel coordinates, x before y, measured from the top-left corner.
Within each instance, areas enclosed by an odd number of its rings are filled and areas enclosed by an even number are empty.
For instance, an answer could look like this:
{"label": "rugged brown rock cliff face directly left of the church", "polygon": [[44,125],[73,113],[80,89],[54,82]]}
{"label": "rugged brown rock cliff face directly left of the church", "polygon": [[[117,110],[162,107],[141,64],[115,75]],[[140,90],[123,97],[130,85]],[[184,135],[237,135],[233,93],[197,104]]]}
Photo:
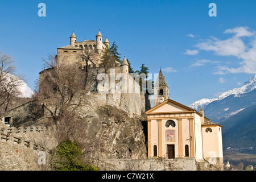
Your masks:
{"label": "rugged brown rock cliff face directly left of the church", "polygon": [[101,106],[95,117],[86,118],[87,133],[94,140],[95,155],[101,159],[145,158],[146,144],[143,117],[129,117],[116,106]]}

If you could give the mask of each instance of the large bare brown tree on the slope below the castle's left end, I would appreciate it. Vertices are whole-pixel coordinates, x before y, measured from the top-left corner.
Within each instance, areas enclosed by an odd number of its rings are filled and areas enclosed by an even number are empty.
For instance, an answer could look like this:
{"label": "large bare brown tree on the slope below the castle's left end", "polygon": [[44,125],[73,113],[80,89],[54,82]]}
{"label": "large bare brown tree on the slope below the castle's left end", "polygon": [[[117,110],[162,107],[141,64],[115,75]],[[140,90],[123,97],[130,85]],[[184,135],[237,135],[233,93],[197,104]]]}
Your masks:
{"label": "large bare brown tree on the slope below the castle's left end", "polygon": [[53,55],[44,59],[48,69],[40,81],[38,100],[49,111],[53,121],[69,113],[76,115],[85,102],[85,72],[77,64],[60,60]]}

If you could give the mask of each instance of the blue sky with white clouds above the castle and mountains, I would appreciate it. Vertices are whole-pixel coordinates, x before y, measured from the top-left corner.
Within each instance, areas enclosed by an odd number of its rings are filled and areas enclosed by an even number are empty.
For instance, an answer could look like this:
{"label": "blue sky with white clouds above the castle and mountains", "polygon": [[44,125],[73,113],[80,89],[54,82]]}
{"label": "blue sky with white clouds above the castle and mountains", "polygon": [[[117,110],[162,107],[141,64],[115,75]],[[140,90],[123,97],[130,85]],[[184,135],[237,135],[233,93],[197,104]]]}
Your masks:
{"label": "blue sky with white clouds above the castle and mountains", "polygon": [[[46,4],[46,17],[38,4]],[[209,3],[217,16],[210,17]],[[172,100],[184,105],[242,86],[256,73],[256,1],[0,1],[0,51],[30,88],[42,57],[77,41],[114,41],[134,70],[162,67]]]}

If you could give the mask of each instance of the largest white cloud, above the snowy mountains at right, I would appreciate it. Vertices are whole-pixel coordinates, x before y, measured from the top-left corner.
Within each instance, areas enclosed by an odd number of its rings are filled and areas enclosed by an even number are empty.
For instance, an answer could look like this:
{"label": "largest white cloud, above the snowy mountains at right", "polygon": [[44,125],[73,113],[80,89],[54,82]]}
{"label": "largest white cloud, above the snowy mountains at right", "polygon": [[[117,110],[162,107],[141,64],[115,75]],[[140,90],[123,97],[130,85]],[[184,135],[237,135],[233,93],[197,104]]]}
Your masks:
{"label": "largest white cloud, above the snowy mountains at right", "polygon": [[[204,51],[213,51],[219,56],[235,56],[241,59],[240,66],[230,68],[227,66],[216,67],[214,74],[224,75],[225,73],[256,73],[256,35],[255,31],[250,31],[248,27],[236,27],[227,29],[225,34],[234,34],[228,39],[211,39],[204,40],[195,46]],[[249,40],[248,42],[245,42]]]}

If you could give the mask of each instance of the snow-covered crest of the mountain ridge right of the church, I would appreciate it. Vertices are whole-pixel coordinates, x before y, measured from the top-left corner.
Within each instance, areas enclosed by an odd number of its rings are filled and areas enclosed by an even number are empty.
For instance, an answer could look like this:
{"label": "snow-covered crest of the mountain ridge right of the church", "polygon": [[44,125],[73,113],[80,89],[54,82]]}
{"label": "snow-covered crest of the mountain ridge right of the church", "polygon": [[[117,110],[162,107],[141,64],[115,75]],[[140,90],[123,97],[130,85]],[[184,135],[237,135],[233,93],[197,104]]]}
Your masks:
{"label": "snow-covered crest of the mountain ridge right of the church", "polygon": [[191,105],[189,105],[189,107],[199,111],[201,108],[205,109],[205,107],[207,107],[207,105],[209,105],[213,101],[220,101],[230,95],[234,95],[234,97],[240,97],[240,94],[251,92],[254,89],[256,89],[256,75],[246,81],[241,88],[234,88],[232,90],[228,90],[227,92],[222,93],[218,98],[203,98],[199,101],[193,102]]}

